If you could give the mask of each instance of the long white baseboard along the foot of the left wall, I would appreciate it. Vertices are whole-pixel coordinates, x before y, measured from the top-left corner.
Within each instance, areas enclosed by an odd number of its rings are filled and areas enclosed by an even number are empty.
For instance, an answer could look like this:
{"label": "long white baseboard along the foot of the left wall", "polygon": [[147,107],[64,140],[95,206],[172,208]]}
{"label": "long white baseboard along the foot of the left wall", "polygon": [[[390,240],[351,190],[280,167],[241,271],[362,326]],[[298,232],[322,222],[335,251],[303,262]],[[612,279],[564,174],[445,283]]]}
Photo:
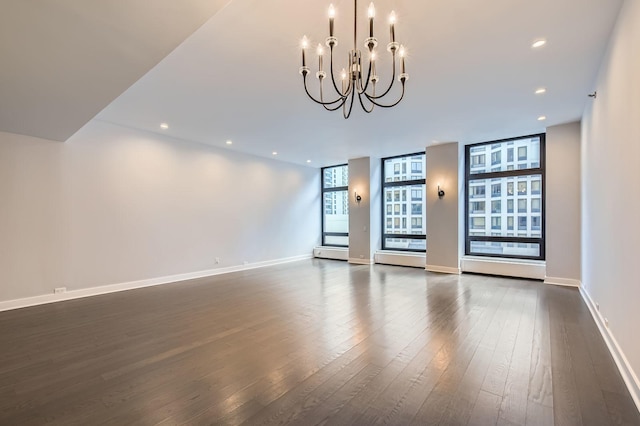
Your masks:
{"label": "long white baseboard along the foot of the left wall", "polygon": [[246,271],[249,269],[264,268],[266,266],[280,265],[283,263],[297,262],[311,259],[311,255],[301,255],[287,257],[283,259],[267,260],[264,262],[248,263],[246,265],[230,266],[227,268],[216,268],[205,271],[189,272],[185,274],[168,275],[164,277],[149,278],[145,280],[130,281],[118,284],[109,284],[99,287],[83,288],[71,290],[59,294],[42,294],[39,296],[26,297],[23,299],[0,301],[0,312],[11,309],[26,308],[28,306],[43,305],[46,303],[62,302],[64,300],[79,299],[82,297],[97,296],[99,294],[115,293],[117,291],[132,290],[135,288],[151,287],[162,284],[171,284],[180,281],[187,281],[196,278],[206,278],[214,275],[228,274],[230,272]]}

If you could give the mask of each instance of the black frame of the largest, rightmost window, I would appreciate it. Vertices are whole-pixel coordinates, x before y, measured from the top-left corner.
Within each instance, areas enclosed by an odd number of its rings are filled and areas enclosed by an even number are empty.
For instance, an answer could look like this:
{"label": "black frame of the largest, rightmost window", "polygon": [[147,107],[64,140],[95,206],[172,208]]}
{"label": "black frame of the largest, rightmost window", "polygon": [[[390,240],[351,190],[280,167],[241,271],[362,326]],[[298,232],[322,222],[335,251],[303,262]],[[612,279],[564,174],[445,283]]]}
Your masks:
{"label": "black frame of the largest, rightmost window", "polygon": [[[514,168],[512,170],[503,170],[499,172],[485,172],[485,173],[475,173],[471,174],[471,149],[473,147],[483,146],[483,145],[493,145],[498,143],[507,143],[511,141],[517,141],[521,139],[530,139],[530,138],[540,138],[540,162],[537,167],[531,167],[527,169],[518,169]],[[465,255],[467,256],[482,256],[482,257],[501,257],[501,258],[510,258],[510,259],[530,259],[530,260],[545,260],[546,258],[546,248],[545,248],[545,222],[546,222],[546,176],[545,176],[545,163],[546,163],[546,155],[545,155],[545,144],[546,144],[546,133],[518,136],[507,139],[500,139],[494,141],[480,142],[475,144],[469,144],[465,146]],[[529,146],[527,148],[527,154],[529,153]],[[476,154],[478,155],[478,154]],[[520,160],[518,160],[520,161]],[[505,164],[508,163],[505,162]],[[517,161],[514,161],[517,163]],[[486,182],[491,182],[491,179],[496,178],[507,178],[507,177],[518,177],[518,176],[531,176],[531,175],[540,175],[540,212],[536,212],[536,216],[540,216],[540,237],[517,237],[517,236],[478,236],[478,235],[469,235],[470,227],[470,211],[469,211],[469,203],[474,200],[469,193],[470,187],[472,187],[472,182],[475,180],[485,180]],[[517,182],[514,180],[514,182]],[[491,184],[491,183],[490,183]],[[501,184],[502,185],[502,184]],[[514,190],[517,190],[516,185],[514,185]],[[486,192],[486,191],[485,191]],[[517,192],[517,191],[516,191]],[[477,199],[475,199],[477,201]],[[489,198],[491,200],[491,197]],[[516,198],[517,200],[517,198]],[[515,202],[514,202],[515,204]],[[517,208],[514,205],[514,213],[508,213],[508,215],[514,216],[514,232],[519,228],[519,215],[517,214]],[[508,210],[508,209],[507,209]],[[485,242],[497,242],[497,243],[524,243],[524,244],[538,244],[540,247],[538,256],[522,256],[522,255],[511,255],[511,254],[493,254],[493,253],[477,253],[471,252],[471,243],[473,241],[485,241]]]}

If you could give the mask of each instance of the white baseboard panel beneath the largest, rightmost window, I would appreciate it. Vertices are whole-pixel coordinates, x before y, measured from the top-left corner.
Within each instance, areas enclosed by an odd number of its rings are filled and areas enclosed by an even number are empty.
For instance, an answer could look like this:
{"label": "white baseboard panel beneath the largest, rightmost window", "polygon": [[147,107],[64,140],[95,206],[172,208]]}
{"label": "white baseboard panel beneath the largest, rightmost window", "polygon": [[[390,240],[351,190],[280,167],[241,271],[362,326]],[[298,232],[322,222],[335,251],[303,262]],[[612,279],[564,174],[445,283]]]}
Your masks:
{"label": "white baseboard panel beneath the largest, rightmost window", "polygon": [[463,272],[475,272],[478,274],[503,275],[536,280],[544,280],[547,275],[547,265],[540,260],[464,256],[460,264]]}

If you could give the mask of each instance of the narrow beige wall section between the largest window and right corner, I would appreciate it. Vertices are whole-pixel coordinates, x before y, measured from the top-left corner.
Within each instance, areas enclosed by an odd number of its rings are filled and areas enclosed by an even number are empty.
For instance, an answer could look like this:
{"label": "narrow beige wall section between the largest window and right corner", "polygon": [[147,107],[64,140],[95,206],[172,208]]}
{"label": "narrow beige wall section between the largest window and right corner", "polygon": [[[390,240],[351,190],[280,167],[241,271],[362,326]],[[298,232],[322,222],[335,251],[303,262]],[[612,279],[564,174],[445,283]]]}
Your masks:
{"label": "narrow beige wall section between the largest window and right corner", "polygon": [[547,128],[546,279],[580,285],[580,122]]}

